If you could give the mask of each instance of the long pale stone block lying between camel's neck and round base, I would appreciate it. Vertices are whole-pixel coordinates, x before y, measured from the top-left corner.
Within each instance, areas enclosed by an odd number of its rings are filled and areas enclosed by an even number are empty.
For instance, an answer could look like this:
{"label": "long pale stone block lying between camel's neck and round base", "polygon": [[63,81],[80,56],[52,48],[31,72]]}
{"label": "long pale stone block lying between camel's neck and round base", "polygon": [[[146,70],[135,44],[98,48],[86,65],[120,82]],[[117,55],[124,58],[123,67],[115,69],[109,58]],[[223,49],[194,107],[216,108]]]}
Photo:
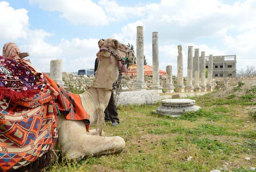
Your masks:
{"label": "long pale stone block lying between camel's neck and round base", "polygon": [[156,90],[127,91],[120,93],[118,105],[155,104],[160,100],[161,97]]}

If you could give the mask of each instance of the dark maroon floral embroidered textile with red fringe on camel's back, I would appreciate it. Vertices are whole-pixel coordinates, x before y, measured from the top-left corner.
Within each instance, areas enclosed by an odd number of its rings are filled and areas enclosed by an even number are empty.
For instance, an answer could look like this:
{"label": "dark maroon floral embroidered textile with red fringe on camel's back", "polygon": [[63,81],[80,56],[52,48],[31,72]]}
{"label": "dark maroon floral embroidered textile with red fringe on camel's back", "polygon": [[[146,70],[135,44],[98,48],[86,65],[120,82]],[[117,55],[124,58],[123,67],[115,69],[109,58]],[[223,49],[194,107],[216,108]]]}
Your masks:
{"label": "dark maroon floral embroidered textile with red fringe on camel's back", "polygon": [[40,91],[44,82],[42,73],[22,59],[0,56],[0,100],[29,98]]}

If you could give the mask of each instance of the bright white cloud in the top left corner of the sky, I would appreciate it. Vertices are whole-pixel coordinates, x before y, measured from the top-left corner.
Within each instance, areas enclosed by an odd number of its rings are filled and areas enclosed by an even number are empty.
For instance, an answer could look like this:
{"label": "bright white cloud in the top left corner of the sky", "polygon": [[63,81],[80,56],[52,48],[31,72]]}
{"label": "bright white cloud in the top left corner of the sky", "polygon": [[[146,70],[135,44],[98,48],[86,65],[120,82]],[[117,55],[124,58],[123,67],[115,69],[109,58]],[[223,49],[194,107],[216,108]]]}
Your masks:
{"label": "bright white cloud in the top left corner of the sky", "polygon": [[0,39],[15,41],[26,38],[29,27],[29,16],[24,8],[14,9],[6,1],[0,2]]}

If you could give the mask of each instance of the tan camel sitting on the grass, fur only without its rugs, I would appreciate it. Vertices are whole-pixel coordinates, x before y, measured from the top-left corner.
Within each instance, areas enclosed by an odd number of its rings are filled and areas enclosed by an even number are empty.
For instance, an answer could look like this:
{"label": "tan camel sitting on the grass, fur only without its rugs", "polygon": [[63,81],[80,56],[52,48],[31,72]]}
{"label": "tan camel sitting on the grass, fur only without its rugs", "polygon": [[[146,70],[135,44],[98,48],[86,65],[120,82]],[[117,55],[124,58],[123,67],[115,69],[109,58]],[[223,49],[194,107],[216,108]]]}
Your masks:
{"label": "tan camel sitting on the grass, fur only without its rugs", "polygon": [[[122,51],[127,51],[129,48],[119,41],[115,39],[100,40],[99,45],[100,47],[109,48],[121,57],[125,57],[128,54],[129,62],[133,63],[132,51],[128,53]],[[97,53],[99,64],[93,87],[79,95],[83,108],[90,116],[90,125],[97,123],[97,120],[104,122],[104,115],[98,116],[98,106],[101,109],[107,107],[112,92],[110,89],[118,77],[118,59],[113,56],[113,62],[110,63],[110,56],[111,53],[105,50]],[[102,136],[99,136],[101,128],[86,132],[83,121],[67,120],[64,113],[58,116],[57,126],[58,142],[61,150],[65,156],[77,161],[92,154],[120,153],[125,147],[123,138],[119,136],[104,137],[105,133],[103,131]]]}

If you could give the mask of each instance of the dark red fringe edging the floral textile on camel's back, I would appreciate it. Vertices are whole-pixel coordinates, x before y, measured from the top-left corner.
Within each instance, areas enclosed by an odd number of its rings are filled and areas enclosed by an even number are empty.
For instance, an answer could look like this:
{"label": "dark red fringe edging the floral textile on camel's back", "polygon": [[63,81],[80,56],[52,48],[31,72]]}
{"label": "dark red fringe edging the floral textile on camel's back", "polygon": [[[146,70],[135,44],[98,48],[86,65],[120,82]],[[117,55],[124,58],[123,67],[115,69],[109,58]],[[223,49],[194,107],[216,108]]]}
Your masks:
{"label": "dark red fringe edging the floral textile on camel's back", "polygon": [[27,90],[24,92],[16,92],[11,90],[10,88],[0,87],[0,100],[4,98],[10,98],[13,100],[19,100],[24,98],[33,97],[39,90]]}

